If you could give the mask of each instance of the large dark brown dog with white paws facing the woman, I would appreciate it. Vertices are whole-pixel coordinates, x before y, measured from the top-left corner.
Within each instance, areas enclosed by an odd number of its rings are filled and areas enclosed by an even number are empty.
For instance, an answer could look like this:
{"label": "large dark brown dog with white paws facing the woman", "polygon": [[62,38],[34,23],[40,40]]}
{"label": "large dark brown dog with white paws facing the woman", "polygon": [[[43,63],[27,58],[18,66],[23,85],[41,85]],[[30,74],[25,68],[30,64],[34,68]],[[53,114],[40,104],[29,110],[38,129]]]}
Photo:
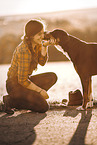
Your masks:
{"label": "large dark brown dog with white paws facing the woman", "polygon": [[61,29],[46,33],[45,38],[56,40],[55,45],[61,46],[62,50],[68,53],[80,77],[83,102],[77,110],[93,107],[91,77],[97,75],[97,43],[87,43]]}

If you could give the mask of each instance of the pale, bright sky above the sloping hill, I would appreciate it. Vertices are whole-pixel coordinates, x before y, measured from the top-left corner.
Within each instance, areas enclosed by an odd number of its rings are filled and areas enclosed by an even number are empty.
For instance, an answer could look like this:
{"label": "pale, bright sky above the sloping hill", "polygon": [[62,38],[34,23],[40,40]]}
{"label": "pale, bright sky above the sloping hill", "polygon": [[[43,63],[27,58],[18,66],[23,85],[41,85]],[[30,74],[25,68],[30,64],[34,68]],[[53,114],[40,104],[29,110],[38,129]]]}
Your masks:
{"label": "pale, bright sky above the sloping hill", "polygon": [[97,0],[0,0],[0,16],[97,8]]}

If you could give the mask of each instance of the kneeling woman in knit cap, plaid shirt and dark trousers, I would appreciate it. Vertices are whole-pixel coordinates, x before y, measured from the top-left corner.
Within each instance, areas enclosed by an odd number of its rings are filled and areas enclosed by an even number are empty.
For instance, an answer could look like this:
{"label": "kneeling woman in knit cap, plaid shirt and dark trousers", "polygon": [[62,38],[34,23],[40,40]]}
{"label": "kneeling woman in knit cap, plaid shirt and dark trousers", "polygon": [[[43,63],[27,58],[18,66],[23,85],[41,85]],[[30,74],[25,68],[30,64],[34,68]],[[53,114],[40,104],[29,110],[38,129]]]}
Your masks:
{"label": "kneeling woman in knit cap, plaid shirt and dark trousers", "polygon": [[25,26],[24,39],[15,49],[8,70],[8,95],[3,96],[4,109],[8,114],[14,113],[12,108],[41,113],[49,108],[47,90],[57,81],[56,74],[49,72],[30,76],[38,64],[43,66],[47,61],[47,47],[42,45],[43,38],[43,24],[38,20],[29,21]]}

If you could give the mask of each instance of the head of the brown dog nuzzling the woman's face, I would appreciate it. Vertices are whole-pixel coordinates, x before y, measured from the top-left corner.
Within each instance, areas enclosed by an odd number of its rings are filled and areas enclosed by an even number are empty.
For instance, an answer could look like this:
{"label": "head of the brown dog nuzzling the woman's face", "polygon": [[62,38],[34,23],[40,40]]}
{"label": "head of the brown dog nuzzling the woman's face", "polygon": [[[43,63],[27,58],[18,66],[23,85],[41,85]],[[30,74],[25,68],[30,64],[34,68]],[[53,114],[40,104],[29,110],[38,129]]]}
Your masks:
{"label": "head of the brown dog nuzzling the woman's face", "polygon": [[56,45],[64,46],[69,39],[69,34],[66,31],[61,29],[55,29],[54,31],[45,33],[44,38],[49,39],[56,39]]}

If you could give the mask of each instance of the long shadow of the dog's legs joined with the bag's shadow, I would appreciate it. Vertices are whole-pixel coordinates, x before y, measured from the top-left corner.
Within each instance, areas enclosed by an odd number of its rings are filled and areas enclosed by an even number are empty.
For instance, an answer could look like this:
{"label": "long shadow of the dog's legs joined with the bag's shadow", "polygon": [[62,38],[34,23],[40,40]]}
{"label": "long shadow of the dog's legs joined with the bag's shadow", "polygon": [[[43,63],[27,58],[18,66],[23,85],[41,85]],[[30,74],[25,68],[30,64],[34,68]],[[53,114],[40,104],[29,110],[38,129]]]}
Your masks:
{"label": "long shadow of the dog's legs joined with the bag's shadow", "polygon": [[81,113],[81,119],[68,145],[84,145],[85,144],[87,128],[89,126],[89,123],[92,117],[92,109],[87,110],[87,111],[81,111],[81,112],[77,110],[68,110],[65,112],[63,116],[76,117],[78,113]]}

